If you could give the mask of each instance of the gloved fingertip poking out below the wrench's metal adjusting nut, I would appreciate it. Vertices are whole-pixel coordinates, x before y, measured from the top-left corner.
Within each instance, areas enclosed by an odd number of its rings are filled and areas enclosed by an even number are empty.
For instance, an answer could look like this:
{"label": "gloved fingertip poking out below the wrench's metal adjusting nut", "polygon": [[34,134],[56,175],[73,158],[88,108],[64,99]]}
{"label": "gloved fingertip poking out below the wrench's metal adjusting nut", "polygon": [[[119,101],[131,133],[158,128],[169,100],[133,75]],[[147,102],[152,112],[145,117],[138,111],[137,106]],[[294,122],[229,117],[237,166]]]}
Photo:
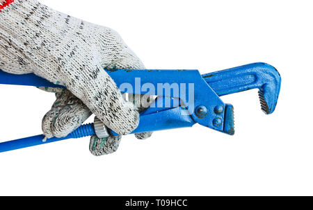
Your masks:
{"label": "gloved fingertip poking out below the wrench's metal adjusting nut", "polygon": [[103,139],[99,139],[97,136],[93,136],[90,139],[89,150],[95,156],[109,155],[118,150],[121,139],[122,136],[110,136]]}

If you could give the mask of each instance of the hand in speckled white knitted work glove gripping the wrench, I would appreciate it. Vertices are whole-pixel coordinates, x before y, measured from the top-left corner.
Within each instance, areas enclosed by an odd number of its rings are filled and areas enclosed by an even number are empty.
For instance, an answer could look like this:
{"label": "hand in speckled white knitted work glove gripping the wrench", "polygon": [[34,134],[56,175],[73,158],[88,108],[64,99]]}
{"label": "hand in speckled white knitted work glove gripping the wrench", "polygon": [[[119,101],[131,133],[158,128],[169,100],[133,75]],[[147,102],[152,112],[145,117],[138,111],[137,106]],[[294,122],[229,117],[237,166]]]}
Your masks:
{"label": "hand in speckled white knitted work glove gripping the wrench", "polygon": [[[104,68],[145,69],[110,28],[64,15],[35,0],[0,0],[0,69],[35,73],[67,87],[47,89],[57,98],[42,121],[48,139],[67,136],[92,113],[118,134],[129,134],[138,126],[138,109],[122,98]],[[120,137],[92,137],[90,151],[108,154],[119,143]]]}

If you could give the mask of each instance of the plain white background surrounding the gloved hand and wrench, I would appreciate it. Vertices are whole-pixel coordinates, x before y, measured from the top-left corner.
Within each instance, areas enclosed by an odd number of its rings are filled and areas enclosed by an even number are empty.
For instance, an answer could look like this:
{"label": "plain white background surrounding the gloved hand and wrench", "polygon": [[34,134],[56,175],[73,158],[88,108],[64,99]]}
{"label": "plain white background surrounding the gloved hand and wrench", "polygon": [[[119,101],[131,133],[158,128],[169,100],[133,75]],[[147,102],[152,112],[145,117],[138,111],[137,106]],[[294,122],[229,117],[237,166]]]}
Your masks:
{"label": "plain white background surrounding the gloved hand and wrench", "polygon": [[[124,137],[104,157],[88,138],[2,153],[0,195],[313,195],[312,1],[40,2],[117,30],[149,69],[272,64],[280,99],[266,116],[257,90],[223,97],[234,137],[196,125]],[[1,85],[0,96],[1,141],[42,133],[53,94]]]}

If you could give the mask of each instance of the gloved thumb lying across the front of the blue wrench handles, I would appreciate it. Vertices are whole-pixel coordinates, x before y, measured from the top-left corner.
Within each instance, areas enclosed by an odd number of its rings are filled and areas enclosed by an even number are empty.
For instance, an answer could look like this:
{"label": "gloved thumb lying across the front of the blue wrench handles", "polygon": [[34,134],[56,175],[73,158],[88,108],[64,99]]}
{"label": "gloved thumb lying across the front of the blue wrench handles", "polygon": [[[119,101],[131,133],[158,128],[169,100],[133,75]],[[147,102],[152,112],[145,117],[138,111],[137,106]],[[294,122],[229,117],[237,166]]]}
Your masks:
{"label": "gloved thumb lying across the front of the blue wrench handles", "polygon": [[129,134],[137,128],[138,109],[122,98],[109,74],[100,66],[88,70],[88,75],[85,74],[81,73],[68,89],[81,98],[100,121],[118,134]]}

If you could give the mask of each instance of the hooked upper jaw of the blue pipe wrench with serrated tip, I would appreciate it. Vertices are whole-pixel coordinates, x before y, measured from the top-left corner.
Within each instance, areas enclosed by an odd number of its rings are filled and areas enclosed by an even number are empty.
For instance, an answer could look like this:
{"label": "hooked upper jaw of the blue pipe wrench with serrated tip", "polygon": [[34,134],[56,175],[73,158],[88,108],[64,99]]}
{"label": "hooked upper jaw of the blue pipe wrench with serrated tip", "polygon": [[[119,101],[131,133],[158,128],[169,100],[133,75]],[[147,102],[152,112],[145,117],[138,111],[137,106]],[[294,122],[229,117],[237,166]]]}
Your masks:
{"label": "hooked upper jaw of the blue pipe wrench with serrated tip", "polygon": [[280,94],[281,77],[278,70],[264,62],[216,71],[202,75],[218,96],[259,89],[262,111],[272,114]]}

